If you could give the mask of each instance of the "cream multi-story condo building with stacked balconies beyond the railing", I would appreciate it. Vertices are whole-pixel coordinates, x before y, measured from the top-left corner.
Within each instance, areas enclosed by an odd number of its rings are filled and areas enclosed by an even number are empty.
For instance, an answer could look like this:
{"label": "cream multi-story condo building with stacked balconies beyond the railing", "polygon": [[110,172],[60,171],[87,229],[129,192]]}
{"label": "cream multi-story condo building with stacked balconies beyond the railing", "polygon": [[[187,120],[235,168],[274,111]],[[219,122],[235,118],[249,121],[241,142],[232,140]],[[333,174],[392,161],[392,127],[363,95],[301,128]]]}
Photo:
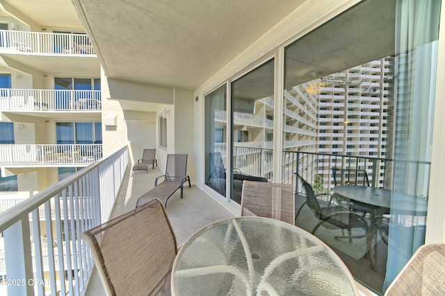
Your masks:
{"label": "cream multi-story condo building with stacked balconies beyond the railing", "polygon": [[100,64],[72,4],[1,4],[0,212],[102,157]]}

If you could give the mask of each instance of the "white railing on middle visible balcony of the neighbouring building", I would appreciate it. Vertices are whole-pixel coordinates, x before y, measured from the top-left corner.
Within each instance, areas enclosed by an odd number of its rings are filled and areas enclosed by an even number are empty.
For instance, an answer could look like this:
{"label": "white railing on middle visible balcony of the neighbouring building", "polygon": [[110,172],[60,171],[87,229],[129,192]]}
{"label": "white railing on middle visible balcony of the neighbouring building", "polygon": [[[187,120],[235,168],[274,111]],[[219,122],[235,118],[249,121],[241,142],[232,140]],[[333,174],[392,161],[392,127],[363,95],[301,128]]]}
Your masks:
{"label": "white railing on middle visible balcony of the neighbouring building", "polygon": [[0,110],[96,111],[102,109],[99,90],[0,89]]}

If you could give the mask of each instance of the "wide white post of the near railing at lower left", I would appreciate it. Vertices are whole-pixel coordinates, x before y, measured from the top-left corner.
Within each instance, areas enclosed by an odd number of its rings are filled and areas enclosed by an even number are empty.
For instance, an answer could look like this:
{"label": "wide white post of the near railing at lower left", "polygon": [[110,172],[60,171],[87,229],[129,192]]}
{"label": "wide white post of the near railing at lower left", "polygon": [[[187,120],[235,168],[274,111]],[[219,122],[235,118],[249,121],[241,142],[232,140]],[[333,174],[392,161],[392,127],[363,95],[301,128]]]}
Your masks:
{"label": "wide white post of the near railing at lower left", "polygon": [[28,216],[3,232],[8,295],[34,294],[33,286],[29,284],[33,279],[30,235]]}

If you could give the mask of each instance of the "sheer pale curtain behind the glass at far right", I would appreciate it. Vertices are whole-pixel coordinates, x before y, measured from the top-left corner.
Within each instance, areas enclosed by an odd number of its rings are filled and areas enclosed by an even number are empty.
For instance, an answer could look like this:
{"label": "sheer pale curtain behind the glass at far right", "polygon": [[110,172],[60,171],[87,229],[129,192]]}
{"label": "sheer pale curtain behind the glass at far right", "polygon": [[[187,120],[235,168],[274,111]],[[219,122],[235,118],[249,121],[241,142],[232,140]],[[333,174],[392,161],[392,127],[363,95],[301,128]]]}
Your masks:
{"label": "sheer pale curtain behind the glass at far right", "polygon": [[426,213],[398,212],[398,192],[428,199],[441,1],[398,0],[393,198],[384,290],[425,240]]}

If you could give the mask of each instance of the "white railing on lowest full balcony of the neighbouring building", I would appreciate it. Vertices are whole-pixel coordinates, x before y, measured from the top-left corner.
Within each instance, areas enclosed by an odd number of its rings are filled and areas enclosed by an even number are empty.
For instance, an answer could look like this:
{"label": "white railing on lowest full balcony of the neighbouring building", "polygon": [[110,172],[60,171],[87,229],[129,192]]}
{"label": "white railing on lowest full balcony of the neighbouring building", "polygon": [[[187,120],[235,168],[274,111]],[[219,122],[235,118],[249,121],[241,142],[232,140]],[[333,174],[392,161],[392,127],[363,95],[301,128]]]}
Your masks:
{"label": "white railing on lowest full balcony of the neighbouring building", "polygon": [[86,166],[102,158],[102,144],[1,144],[0,166]]}

